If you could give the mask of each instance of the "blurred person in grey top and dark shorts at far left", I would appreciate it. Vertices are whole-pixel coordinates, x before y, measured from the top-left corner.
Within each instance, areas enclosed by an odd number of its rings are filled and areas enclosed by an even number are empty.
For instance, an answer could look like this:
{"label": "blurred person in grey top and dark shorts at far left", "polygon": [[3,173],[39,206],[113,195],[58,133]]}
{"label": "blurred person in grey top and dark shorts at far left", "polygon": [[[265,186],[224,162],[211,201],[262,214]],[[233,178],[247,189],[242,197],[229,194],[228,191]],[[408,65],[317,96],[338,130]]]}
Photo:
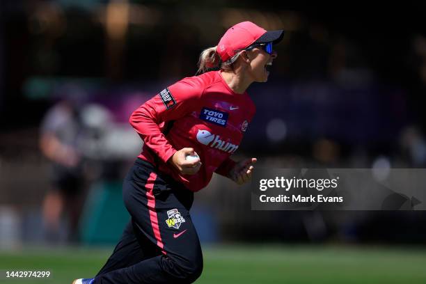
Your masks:
{"label": "blurred person in grey top and dark shorts at far left", "polygon": [[[51,161],[52,187],[42,204],[45,237],[49,242],[74,241],[77,237],[84,182],[78,145],[82,128],[79,107],[72,100],[58,102],[42,120],[40,149]],[[68,236],[64,236],[64,213],[68,219]]]}

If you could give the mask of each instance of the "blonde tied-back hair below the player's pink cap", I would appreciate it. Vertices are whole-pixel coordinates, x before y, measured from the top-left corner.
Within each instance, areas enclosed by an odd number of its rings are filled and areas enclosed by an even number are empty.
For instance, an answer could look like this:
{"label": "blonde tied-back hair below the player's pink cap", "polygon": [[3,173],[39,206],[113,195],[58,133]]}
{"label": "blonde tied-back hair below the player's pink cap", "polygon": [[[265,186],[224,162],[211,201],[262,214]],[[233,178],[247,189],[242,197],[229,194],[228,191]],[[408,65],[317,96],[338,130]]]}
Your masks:
{"label": "blonde tied-back hair below the player's pink cap", "polygon": [[234,63],[239,56],[239,53],[232,56],[228,61],[222,62],[221,56],[216,52],[216,47],[209,47],[204,49],[198,59],[198,70],[196,74],[203,74],[210,70],[233,70],[232,63]]}

